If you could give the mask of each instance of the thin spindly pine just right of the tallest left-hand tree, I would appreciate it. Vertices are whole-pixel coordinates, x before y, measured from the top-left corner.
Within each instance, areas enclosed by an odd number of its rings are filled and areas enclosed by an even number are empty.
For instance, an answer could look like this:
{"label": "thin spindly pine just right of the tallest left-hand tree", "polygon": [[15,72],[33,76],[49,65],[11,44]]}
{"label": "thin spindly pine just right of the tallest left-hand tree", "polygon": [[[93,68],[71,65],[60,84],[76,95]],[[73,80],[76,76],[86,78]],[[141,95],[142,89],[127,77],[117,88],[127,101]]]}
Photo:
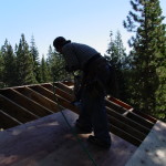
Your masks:
{"label": "thin spindly pine just right of the tallest left-hand tree", "polygon": [[38,52],[38,48],[35,46],[35,41],[33,35],[31,37],[30,52],[33,59],[33,73],[35,75],[35,80],[38,82],[41,82],[39,52]]}

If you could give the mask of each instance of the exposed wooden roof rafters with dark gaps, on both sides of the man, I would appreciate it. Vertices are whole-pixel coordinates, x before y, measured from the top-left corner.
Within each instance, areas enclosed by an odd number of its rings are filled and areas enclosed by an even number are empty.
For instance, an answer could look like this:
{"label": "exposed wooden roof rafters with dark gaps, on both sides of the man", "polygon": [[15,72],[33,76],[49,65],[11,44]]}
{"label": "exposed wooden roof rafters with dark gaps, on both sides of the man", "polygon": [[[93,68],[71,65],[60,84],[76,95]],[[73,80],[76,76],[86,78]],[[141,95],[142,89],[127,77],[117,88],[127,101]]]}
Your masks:
{"label": "exposed wooden roof rafters with dark gaps, on both sides of the man", "polygon": [[[0,128],[7,129],[64,108],[79,114],[79,108],[71,104],[73,98],[73,85],[70,82],[56,82],[54,87],[51,83],[46,83],[2,89]],[[107,97],[105,101],[110,131],[139,146],[156,120],[134,111],[132,106],[117,98]]]}

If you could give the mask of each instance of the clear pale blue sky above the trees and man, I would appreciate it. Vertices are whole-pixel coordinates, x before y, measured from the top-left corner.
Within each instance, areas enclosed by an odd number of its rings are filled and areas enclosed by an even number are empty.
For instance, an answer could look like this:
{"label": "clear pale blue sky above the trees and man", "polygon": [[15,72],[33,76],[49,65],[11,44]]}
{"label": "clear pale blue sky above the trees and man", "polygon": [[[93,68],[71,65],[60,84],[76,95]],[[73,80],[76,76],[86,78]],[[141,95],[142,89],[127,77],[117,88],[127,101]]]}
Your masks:
{"label": "clear pale blue sky above the trees and man", "polygon": [[[8,39],[14,49],[21,33],[30,44],[33,34],[40,56],[46,56],[54,38],[63,35],[104,54],[110,31],[120,30],[127,49],[131,33],[122,22],[132,9],[129,0],[1,0],[0,7],[0,46]],[[160,7],[166,15],[166,0]]]}

